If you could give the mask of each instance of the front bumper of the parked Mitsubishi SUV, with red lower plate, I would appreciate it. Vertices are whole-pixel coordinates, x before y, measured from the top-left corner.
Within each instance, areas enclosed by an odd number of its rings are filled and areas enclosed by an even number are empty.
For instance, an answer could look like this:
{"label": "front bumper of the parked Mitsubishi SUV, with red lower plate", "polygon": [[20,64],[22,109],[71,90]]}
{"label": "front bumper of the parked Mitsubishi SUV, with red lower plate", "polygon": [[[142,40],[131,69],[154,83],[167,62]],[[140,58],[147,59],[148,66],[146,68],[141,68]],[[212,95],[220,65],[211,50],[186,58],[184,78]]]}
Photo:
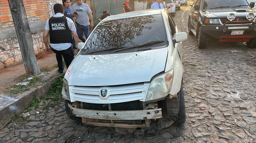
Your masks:
{"label": "front bumper of the parked Mitsubishi SUV, with red lower plate", "polygon": [[[248,42],[256,37],[256,25],[201,25],[204,33],[219,39],[219,42]],[[232,31],[244,30],[242,35],[231,35]]]}

